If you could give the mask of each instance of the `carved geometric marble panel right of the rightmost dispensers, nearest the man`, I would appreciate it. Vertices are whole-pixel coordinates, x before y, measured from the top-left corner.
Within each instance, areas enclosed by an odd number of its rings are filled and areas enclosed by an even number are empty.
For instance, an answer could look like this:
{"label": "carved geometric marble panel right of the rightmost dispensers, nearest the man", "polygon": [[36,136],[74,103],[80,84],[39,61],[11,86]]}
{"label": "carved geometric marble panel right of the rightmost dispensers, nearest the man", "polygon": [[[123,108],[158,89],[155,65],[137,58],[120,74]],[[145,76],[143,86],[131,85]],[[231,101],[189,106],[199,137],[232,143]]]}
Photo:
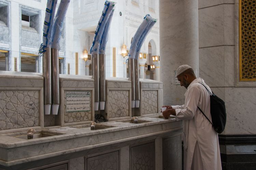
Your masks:
{"label": "carved geometric marble panel right of the rightmost dispensers, nearest the man", "polygon": [[158,113],[157,90],[142,90],[142,115]]}

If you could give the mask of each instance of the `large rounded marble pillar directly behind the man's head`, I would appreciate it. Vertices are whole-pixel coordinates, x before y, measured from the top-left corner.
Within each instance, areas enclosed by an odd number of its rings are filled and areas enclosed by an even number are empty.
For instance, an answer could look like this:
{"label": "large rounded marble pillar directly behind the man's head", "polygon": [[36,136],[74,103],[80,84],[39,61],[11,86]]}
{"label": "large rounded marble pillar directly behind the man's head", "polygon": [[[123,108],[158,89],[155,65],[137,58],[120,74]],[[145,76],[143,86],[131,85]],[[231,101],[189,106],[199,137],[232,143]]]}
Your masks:
{"label": "large rounded marble pillar directly behind the man's head", "polygon": [[159,18],[163,104],[184,104],[186,89],[175,85],[175,71],[188,64],[199,73],[198,0],[162,0]]}

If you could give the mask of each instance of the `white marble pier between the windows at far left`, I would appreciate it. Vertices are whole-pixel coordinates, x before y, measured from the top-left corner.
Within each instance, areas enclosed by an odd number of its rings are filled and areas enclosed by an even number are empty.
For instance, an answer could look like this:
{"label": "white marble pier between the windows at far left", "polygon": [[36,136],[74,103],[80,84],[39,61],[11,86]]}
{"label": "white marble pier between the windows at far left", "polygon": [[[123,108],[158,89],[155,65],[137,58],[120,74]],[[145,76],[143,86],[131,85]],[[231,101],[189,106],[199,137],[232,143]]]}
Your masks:
{"label": "white marble pier between the windows at far left", "polygon": [[[20,52],[19,52],[19,3],[12,2],[11,5],[11,51],[9,55],[8,71],[15,71],[15,60],[17,58],[17,71],[20,71]],[[7,68],[7,67],[6,67]]]}

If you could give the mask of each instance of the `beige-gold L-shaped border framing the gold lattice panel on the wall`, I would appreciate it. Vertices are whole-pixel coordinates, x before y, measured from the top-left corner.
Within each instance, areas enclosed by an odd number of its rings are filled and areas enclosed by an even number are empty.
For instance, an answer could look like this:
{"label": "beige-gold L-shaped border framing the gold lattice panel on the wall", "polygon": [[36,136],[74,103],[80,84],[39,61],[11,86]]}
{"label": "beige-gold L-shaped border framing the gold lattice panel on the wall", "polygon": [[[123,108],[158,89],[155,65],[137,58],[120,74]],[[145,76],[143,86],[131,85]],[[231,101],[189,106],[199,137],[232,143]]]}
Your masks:
{"label": "beige-gold L-shaped border framing the gold lattice panel on the wall", "polygon": [[242,0],[239,0],[239,81],[256,81],[256,79],[242,79]]}

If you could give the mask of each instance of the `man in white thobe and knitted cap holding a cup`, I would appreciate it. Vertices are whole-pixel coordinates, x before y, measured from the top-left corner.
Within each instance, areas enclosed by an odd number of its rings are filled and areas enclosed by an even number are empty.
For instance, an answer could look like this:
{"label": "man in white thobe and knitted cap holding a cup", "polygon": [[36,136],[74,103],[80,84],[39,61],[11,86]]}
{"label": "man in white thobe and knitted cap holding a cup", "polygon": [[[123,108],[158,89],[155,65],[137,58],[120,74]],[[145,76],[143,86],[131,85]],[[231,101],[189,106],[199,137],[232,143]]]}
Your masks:
{"label": "man in white thobe and knitted cap holding a cup", "polygon": [[[185,104],[167,106],[163,116],[170,115],[184,121],[184,170],[221,170],[221,156],[219,152],[218,134],[215,132],[210,114],[210,95],[201,78],[196,78],[193,69],[182,65],[177,69],[177,78],[187,91]],[[205,116],[197,108],[201,108]]]}

